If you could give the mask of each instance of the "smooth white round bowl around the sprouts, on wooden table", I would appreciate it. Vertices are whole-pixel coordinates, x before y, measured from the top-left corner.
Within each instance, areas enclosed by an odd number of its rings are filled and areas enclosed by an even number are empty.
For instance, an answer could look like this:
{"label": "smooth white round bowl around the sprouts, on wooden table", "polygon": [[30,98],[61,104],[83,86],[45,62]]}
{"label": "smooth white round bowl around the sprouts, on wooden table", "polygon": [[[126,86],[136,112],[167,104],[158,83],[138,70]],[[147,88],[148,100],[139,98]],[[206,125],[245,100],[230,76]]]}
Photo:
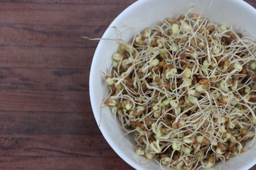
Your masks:
{"label": "smooth white round bowl around the sprouts, on wooden table", "polygon": [[[167,17],[176,18],[181,13],[186,13],[192,6],[194,13],[202,13],[215,23],[225,24],[238,28],[238,32],[256,38],[256,10],[242,0],[140,0],[125,9],[107,28],[102,38],[119,39],[119,30],[136,28],[142,31],[144,28],[159,23]],[[116,27],[116,28],[111,28]],[[136,31],[128,29],[122,33],[122,39],[129,42]],[[154,162],[144,157],[138,157],[131,142],[124,136],[110,113],[110,109],[102,108],[102,101],[107,97],[109,90],[102,72],[106,72],[112,63],[112,55],[117,52],[117,41],[100,40],[95,51],[90,70],[90,101],[92,111],[102,135],[112,149],[122,157],[127,164],[134,169],[160,169]],[[256,164],[256,147],[239,157],[233,157],[226,162],[225,169],[250,169]],[[213,169],[221,169],[222,163],[218,163]]]}

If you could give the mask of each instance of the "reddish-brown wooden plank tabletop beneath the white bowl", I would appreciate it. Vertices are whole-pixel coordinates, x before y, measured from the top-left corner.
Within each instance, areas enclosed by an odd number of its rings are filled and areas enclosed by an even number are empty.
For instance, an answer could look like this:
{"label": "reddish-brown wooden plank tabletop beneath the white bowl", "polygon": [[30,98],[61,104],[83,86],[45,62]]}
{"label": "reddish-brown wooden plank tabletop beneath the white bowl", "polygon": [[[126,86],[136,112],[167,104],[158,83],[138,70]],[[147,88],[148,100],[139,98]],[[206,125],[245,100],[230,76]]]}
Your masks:
{"label": "reddish-brown wooden plank tabletop beneath the white bowl", "polygon": [[100,38],[133,2],[0,1],[0,169],[132,169],[97,128],[88,86],[97,41],[80,35]]}

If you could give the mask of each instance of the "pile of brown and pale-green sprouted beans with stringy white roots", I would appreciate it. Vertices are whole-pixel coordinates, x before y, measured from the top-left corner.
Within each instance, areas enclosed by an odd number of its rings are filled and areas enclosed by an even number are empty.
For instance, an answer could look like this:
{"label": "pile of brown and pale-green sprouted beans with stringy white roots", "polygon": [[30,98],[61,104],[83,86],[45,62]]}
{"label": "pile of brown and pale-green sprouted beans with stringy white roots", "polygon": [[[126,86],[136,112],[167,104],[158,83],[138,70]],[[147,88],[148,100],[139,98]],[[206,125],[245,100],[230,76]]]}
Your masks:
{"label": "pile of brown and pale-green sprouted beans with stringy white roots", "polygon": [[255,137],[255,39],[192,13],[144,29],[112,59],[104,103],[138,155],[210,169]]}

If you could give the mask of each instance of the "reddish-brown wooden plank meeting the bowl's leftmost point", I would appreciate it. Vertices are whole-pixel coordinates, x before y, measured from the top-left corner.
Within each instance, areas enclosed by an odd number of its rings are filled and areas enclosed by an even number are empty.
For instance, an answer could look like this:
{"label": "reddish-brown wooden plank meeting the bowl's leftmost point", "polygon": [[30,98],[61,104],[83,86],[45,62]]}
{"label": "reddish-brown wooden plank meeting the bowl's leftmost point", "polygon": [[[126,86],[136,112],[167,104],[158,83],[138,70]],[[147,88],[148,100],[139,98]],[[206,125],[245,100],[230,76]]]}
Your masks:
{"label": "reddish-brown wooden plank meeting the bowl's leftmost point", "polygon": [[90,69],[0,67],[0,90],[88,91],[89,87],[83,77],[86,72],[90,72]]}

